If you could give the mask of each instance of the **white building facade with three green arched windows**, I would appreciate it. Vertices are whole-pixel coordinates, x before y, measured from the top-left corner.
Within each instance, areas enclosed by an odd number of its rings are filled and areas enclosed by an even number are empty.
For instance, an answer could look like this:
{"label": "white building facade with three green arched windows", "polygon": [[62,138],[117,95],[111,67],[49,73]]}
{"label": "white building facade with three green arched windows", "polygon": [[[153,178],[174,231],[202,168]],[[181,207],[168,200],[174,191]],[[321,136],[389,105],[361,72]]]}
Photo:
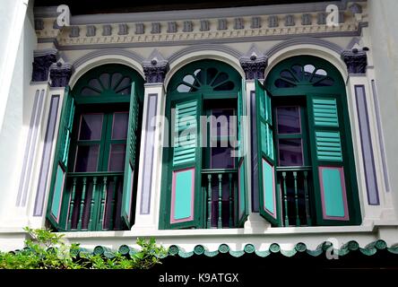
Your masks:
{"label": "white building facade with three green arched windows", "polygon": [[5,3],[1,249],[395,250],[395,1]]}

